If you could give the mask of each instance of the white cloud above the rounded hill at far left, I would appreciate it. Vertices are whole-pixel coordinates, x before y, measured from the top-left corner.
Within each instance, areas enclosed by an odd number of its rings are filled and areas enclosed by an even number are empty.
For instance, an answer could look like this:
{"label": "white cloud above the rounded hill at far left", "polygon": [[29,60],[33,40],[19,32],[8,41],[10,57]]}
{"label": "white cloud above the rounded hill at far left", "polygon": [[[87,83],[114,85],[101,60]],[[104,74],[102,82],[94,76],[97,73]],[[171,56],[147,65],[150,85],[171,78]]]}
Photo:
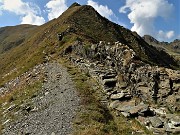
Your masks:
{"label": "white cloud above the rounded hill at far left", "polygon": [[22,0],[3,0],[2,11],[9,11],[21,16],[21,24],[41,25],[45,23],[43,17],[40,17],[40,8],[33,4],[23,2]]}

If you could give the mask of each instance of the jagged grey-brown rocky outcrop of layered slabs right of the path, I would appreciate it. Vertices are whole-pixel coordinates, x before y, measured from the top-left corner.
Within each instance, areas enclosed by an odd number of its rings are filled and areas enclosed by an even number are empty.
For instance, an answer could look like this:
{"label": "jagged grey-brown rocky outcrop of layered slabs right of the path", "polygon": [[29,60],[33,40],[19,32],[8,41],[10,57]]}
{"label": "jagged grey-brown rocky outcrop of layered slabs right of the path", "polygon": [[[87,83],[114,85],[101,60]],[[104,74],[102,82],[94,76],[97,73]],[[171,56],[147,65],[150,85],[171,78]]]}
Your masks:
{"label": "jagged grey-brown rocky outcrop of layered slabs right of the path", "polygon": [[180,125],[169,125],[179,117],[174,113],[180,111],[180,71],[146,64],[119,42],[70,47],[73,53],[67,56],[101,84],[110,108],[154,133],[179,132]]}

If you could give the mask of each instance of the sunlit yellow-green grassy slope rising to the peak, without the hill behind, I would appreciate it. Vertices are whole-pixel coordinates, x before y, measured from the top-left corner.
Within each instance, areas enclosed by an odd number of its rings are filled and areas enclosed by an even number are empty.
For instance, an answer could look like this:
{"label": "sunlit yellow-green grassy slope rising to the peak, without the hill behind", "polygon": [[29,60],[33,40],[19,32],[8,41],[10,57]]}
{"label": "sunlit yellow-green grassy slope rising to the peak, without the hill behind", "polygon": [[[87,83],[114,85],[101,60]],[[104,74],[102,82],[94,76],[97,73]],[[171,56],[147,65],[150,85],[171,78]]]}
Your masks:
{"label": "sunlit yellow-green grassy slope rising to the peak, without the hill behind", "polygon": [[[61,18],[54,19],[42,26],[31,31],[28,40],[21,45],[12,48],[6,53],[0,54],[0,85],[22,74],[29,68],[43,62],[43,57],[54,51],[55,45],[58,44],[57,33],[67,29],[68,24],[64,21],[77,8],[69,9]],[[7,73],[13,71],[10,75]]]}

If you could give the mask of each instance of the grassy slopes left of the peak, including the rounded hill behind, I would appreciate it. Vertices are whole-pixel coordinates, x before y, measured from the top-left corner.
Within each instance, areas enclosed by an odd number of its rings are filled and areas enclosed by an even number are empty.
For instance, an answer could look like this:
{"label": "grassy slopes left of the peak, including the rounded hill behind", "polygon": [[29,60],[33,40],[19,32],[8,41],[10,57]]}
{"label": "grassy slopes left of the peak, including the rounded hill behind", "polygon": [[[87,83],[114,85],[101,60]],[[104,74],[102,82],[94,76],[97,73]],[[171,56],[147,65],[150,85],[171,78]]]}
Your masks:
{"label": "grassy slopes left of the peak, including the rounded hill behind", "polygon": [[[61,18],[54,19],[39,27],[19,25],[0,28],[0,85],[42,63],[46,55],[52,55],[55,52],[55,47],[59,44],[57,34],[68,28],[69,24],[64,22],[77,9],[78,7],[68,9],[61,15]],[[15,43],[21,39],[23,39],[22,43]],[[70,43],[68,38],[64,42],[66,42],[65,45]],[[13,45],[12,48],[8,47],[11,45]],[[10,50],[2,53],[3,46]]]}

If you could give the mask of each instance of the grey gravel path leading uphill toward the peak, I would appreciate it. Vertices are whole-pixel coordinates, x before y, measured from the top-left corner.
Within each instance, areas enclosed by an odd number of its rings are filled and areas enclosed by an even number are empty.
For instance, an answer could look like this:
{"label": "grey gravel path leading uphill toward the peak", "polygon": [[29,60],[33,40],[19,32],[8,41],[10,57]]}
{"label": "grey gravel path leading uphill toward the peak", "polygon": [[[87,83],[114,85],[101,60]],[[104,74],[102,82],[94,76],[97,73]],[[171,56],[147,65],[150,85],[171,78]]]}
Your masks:
{"label": "grey gravel path leading uphill toward the peak", "polygon": [[79,97],[66,69],[57,63],[45,67],[47,81],[42,93],[33,99],[35,111],[7,126],[4,135],[67,135]]}

